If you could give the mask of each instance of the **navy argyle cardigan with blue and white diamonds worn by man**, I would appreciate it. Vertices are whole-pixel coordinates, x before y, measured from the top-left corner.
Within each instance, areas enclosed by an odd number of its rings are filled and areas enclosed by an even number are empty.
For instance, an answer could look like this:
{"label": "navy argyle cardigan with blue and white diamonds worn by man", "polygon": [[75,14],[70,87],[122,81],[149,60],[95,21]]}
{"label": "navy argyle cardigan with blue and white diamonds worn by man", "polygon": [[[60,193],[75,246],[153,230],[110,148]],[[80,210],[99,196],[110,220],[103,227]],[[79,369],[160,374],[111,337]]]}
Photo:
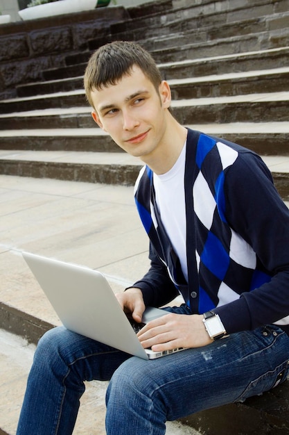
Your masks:
{"label": "navy argyle cardigan with blue and white diamonds worn by man", "polygon": [[145,304],[163,306],[181,293],[192,313],[218,313],[229,334],[272,322],[289,329],[289,211],[261,158],[188,129],[189,282],[161,223],[152,175],[143,167],[134,189],[150,238],[150,270],[134,283]]}

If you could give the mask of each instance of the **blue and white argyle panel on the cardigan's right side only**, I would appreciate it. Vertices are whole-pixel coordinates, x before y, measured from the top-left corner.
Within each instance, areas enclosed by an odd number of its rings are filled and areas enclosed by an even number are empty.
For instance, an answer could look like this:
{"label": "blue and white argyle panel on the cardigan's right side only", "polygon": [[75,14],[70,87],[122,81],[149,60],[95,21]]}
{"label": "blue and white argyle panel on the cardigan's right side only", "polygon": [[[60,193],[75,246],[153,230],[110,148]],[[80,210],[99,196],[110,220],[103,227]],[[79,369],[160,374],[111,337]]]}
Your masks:
{"label": "blue and white argyle panel on the cardigan's right side only", "polygon": [[270,280],[256,270],[256,253],[229,227],[225,217],[226,171],[237,158],[236,149],[200,136],[196,154],[199,172],[193,185],[200,313],[238,299],[244,291]]}

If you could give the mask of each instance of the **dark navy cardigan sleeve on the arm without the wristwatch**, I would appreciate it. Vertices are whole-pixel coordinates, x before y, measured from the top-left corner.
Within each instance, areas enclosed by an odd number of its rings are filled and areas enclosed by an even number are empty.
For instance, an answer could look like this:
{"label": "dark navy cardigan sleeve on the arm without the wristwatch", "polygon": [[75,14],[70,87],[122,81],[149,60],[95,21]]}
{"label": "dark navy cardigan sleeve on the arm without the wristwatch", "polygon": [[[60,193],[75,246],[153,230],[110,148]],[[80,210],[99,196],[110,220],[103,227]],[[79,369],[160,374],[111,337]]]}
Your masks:
{"label": "dark navy cardigan sleeve on the arm without the wristwatch", "polygon": [[166,265],[160,261],[151,243],[149,258],[150,269],[133,287],[141,289],[146,306],[159,307],[168,304],[179,293],[168,276]]}

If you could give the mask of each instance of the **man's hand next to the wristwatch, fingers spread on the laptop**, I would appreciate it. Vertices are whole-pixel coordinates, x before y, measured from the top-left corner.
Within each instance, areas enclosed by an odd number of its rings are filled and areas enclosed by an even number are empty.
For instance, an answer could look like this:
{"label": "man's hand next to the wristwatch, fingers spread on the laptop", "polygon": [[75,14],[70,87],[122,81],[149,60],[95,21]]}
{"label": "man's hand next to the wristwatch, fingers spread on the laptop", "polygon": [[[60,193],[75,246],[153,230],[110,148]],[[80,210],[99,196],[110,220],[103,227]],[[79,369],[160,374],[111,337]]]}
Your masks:
{"label": "man's hand next to the wristwatch, fingers spread on the laptop", "polygon": [[155,352],[176,347],[202,347],[213,341],[202,319],[198,314],[169,313],[148,322],[137,336],[145,349],[151,347]]}

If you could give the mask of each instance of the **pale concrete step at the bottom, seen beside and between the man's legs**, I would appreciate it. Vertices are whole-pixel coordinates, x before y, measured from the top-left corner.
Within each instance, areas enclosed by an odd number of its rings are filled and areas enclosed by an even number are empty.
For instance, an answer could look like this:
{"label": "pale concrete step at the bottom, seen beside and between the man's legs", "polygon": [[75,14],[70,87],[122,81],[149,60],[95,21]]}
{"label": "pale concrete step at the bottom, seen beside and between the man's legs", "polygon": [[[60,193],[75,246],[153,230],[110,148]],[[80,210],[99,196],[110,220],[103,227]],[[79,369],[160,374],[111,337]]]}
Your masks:
{"label": "pale concrete step at the bottom, seen beside and between the man's legs", "polygon": [[[0,343],[0,370],[6,379],[0,387],[0,434],[14,435],[35,345],[28,344],[25,339],[1,329]],[[80,411],[73,435],[105,435],[106,388],[107,382],[85,383],[85,394],[80,400]],[[166,434],[198,435],[199,432],[181,422],[168,422]]]}

